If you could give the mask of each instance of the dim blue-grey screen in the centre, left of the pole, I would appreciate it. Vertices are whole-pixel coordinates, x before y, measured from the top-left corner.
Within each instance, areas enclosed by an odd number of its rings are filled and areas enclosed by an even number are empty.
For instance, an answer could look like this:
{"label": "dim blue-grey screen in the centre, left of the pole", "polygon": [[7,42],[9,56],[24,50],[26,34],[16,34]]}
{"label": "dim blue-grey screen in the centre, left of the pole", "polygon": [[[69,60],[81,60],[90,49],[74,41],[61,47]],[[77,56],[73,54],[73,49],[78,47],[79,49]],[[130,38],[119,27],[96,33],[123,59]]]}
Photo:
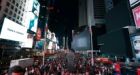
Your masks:
{"label": "dim blue-grey screen in the centre, left of the pole", "polygon": [[73,41],[71,43],[72,48],[75,51],[85,51],[85,50],[90,50],[91,45],[90,45],[90,33],[88,30],[84,30],[83,32],[75,35],[73,37]]}

